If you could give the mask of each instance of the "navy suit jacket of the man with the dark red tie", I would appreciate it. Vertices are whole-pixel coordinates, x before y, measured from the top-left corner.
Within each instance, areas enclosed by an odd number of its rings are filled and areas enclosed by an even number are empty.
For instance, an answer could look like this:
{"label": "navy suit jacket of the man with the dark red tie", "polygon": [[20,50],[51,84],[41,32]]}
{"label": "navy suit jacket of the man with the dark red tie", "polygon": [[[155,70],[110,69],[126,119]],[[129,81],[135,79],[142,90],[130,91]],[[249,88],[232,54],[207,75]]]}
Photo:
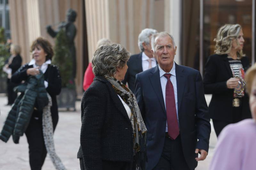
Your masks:
{"label": "navy suit jacket of the man with the dark red tie", "polygon": [[[197,166],[195,149],[207,152],[209,149],[210,116],[200,72],[178,64],[175,65],[175,71],[182,152],[190,169],[194,169]],[[146,169],[151,170],[161,157],[166,128],[166,110],[158,65],[137,74],[135,95],[148,130]]]}

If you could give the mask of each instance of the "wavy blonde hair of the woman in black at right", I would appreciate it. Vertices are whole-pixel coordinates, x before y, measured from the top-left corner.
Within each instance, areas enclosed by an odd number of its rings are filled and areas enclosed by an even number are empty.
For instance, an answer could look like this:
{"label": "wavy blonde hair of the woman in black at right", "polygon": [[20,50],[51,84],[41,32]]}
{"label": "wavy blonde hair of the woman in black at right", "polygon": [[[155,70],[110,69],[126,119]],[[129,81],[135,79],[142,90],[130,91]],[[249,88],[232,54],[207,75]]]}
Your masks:
{"label": "wavy blonde hair of the woman in black at right", "polygon": [[[225,24],[224,26],[221,26],[216,38],[213,40],[216,42],[216,49],[214,52],[219,55],[230,53],[232,41],[238,37],[241,29],[242,27],[239,24]],[[241,57],[244,56],[242,49],[237,53],[238,59],[241,59]]]}

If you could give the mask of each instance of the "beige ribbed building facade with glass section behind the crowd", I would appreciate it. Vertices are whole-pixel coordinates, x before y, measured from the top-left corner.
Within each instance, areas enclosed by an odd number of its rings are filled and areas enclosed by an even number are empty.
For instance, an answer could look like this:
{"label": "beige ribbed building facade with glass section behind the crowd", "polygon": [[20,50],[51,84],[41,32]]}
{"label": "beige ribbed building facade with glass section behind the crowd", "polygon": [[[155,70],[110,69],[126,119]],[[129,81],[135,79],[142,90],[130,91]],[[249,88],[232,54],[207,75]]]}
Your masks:
{"label": "beige ribbed building facade with glass section behind the crowd", "polygon": [[177,45],[175,62],[203,74],[218,28],[238,23],[243,27],[244,52],[255,61],[255,0],[11,0],[9,7],[12,41],[21,46],[24,63],[31,59],[29,47],[38,36],[54,44],[47,25],[57,29],[67,9],[77,11],[78,94],[83,92],[84,70],[97,41],[109,38],[132,54],[139,53],[137,39],[144,28],[171,33]]}

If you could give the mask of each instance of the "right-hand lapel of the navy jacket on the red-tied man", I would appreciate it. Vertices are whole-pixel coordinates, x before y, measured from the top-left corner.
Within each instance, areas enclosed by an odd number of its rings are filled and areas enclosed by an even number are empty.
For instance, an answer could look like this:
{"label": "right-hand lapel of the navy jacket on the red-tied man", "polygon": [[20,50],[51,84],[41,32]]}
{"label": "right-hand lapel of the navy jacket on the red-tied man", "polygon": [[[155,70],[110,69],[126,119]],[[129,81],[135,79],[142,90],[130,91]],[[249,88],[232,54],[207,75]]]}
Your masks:
{"label": "right-hand lapel of the navy jacket on the red-tied man", "polygon": [[183,68],[175,63],[175,72],[176,72],[176,82],[177,82],[177,98],[178,98],[178,115],[180,118],[180,105],[183,97],[184,87],[185,87],[185,75],[183,73]]}

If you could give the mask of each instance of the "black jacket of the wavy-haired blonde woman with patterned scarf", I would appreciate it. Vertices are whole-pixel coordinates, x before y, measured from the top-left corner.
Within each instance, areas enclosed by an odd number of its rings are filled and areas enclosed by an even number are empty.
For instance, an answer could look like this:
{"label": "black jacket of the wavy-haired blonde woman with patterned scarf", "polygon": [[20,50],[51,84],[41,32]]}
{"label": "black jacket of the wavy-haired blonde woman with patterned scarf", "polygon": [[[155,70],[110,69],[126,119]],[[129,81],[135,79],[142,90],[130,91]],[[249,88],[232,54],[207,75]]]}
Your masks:
{"label": "black jacket of the wavy-haired blonde woman with patterned scarf", "polygon": [[[234,89],[227,88],[227,80],[233,77],[228,55],[211,55],[205,64],[204,92],[212,94],[209,113],[212,119],[232,122],[232,100]],[[241,63],[246,71],[250,65],[248,57],[242,57]],[[249,97],[242,99],[242,119],[251,118]]]}

